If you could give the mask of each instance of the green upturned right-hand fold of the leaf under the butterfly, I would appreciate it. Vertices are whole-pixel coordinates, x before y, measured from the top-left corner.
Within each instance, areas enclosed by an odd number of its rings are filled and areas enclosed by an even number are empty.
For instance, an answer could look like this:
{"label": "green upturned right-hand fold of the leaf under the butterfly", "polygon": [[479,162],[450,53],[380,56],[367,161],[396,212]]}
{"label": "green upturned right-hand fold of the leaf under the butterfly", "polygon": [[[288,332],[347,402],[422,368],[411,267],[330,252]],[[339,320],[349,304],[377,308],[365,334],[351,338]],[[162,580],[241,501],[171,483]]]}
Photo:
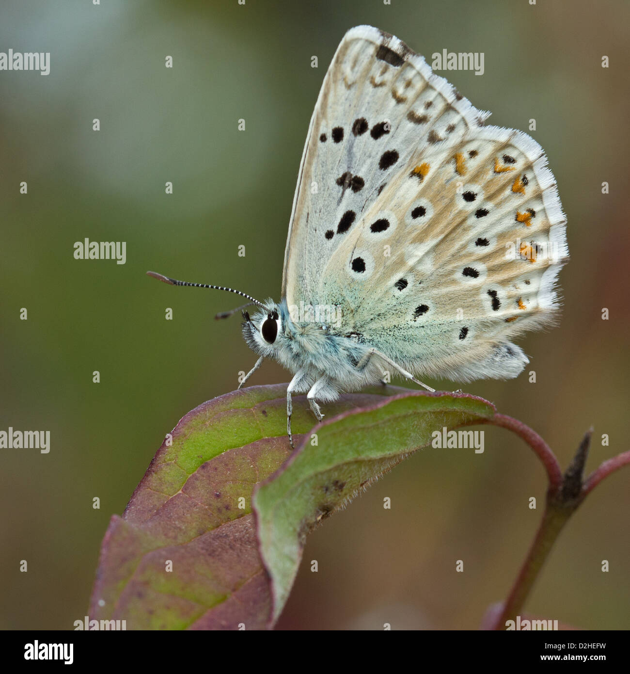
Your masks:
{"label": "green upturned right-hand fold of the leaf under the butterfly", "polygon": [[428,445],[433,431],[477,423],[494,413],[491,403],[476,396],[406,390],[317,427],[317,446],[303,443],[254,494],[261,557],[272,578],[272,623],[314,526]]}

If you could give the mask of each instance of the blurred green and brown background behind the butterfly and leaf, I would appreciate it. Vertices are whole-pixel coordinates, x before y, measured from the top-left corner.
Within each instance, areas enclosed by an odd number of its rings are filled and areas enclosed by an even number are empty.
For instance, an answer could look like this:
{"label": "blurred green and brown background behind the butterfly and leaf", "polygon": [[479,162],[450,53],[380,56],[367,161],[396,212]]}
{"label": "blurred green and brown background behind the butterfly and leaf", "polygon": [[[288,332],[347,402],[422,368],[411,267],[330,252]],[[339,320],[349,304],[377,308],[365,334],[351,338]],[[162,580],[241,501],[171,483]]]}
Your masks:
{"label": "blurred green and brown background behind the butterfly and leaf", "polygon": [[[484,52],[482,77],[441,74],[491,123],[536,119],[559,183],[571,262],[561,326],[520,342],[536,384],[524,373],[465,390],[536,429],[563,467],[591,424],[589,472],[627,450],[627,2],[40,0],[0,11],[0,51],[51,52],[47,77],[0,72],[0,428],[51,431],[49,454],[0,450],[1,628],[66,630],[86,614],[108,520],[164,434],[253,365],[239,318],[213,319],[237,301],[145,272],[280,299],[309,119],[354,25],[396,34],[429,62],[442,49]],[[127,264],[75,260],[85,237],[126,241]],[[251,379],[279,381],[288,373],[268,361]],[[279,627],[476,628],[505,598],[546,490],[515,436],[486,427],[485,448],[418,452],[327,520]],[[618,472],[575,514],[529,612],[630,627],[629,480]]]}

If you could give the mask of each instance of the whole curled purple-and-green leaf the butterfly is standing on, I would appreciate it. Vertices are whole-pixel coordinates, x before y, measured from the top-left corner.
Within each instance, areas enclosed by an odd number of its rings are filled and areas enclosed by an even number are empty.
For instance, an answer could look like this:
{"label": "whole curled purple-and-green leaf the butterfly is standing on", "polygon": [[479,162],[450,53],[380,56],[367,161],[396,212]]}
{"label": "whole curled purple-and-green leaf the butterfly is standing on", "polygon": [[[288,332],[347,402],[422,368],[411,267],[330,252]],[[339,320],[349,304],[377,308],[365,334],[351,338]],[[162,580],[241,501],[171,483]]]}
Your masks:
{"label": "whole curled purple-and-green leaf the butterfly is standing on", "polygon": [[[293,409],[299,442],[313,417],[303,396]],[[382,387],[342,396],[326,412],[317,446],[309,435],[292,456],[286,384],[232,392],[185,415],[109,524],[90,618],[125,619],[129,630],[270,626],[317,522],[431,431],[492,417],[494,408],[465,394]]]}

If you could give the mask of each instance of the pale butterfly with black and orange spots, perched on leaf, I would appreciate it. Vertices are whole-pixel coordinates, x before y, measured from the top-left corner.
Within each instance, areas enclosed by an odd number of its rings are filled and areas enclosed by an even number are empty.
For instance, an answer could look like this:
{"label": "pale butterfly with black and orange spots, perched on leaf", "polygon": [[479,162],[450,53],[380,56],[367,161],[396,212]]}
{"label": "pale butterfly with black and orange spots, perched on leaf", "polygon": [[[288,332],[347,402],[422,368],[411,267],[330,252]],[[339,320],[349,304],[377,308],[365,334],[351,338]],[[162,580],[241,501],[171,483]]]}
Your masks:
{"label": "pale butterfly with black and orange spots, perched on leaf", "polygon": [[[484,113],[398,38],[349,30],[327,70],[290,217],[282,299],[239,290],[243,336],[320,404],[400,375],[511,379],[513,338],[553,325],[565,216],[538,143]],[[254,315],[244,311],[255,305]]]}

